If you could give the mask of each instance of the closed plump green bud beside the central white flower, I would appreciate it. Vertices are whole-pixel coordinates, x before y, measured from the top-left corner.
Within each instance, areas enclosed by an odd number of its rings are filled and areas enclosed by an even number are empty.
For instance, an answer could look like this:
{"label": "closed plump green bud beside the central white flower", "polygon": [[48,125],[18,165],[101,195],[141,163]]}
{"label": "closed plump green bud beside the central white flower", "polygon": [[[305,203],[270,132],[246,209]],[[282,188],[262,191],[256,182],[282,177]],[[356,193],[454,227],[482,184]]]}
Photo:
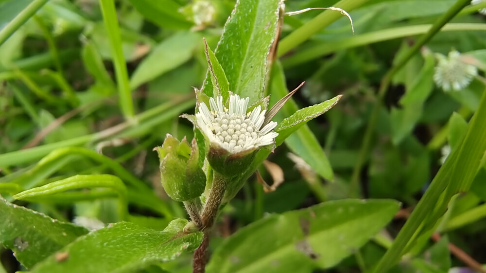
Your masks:
{"label": "closed plump green bud beside the central white flower", "polygon": [[176,201],[199,197],[206,186],[206,175],[199,166],[199,150],[195,139],[179,142],[167,134],[164,144],[156,147],[160,158],[160,177],[165,192]]}

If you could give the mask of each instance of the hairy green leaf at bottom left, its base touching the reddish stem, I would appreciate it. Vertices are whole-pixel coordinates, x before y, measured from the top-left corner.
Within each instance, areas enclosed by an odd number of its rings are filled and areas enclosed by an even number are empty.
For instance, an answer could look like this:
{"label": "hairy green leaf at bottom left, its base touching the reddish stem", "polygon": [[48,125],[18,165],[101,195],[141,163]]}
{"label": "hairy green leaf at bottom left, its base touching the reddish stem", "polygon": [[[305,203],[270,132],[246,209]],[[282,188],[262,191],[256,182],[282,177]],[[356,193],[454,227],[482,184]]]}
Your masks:
{"label": "hairy green leaf at bottom left, its base touching the reddish stem", "polygon": [[[172,221],[163,231],[120,222],[91,232],[37,264],[32,273],[135,272],[147,265],[191,252],[202,233],[182,235],[188,223]],[[62,260],[59,257],[65,257]]]}

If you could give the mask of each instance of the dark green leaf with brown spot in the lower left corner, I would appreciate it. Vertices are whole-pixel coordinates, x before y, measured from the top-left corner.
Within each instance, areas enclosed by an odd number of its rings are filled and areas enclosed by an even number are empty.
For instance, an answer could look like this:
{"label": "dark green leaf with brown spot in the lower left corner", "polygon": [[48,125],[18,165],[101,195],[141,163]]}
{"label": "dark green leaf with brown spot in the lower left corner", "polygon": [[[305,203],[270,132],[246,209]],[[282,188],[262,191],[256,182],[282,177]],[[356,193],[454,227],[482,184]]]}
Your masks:
{"label": "dark green leaf with brown spot in the lower left corner", "polygon": [[62,223],[37,211],[19,207],[0,196],[0,242],[14,251],[26,268],[87,233],[83,227]]}

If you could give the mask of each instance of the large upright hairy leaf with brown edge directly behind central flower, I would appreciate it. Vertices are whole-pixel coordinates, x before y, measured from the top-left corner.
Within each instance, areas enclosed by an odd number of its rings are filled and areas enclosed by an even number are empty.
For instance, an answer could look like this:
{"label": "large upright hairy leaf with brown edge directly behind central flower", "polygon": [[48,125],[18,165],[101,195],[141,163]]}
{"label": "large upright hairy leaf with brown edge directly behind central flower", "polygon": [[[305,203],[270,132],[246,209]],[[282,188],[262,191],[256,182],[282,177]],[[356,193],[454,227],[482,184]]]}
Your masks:
{"label": "large upright hairy leaf with brown edge directly behind central flower", "polygon": [[[269,55],[278,34],[280,0],[239,0],[226,21],[216,58],[223,67],[234,94],[250,97],[250,105],[263,96]],[[203,91],[212,94],[209,79]]]}

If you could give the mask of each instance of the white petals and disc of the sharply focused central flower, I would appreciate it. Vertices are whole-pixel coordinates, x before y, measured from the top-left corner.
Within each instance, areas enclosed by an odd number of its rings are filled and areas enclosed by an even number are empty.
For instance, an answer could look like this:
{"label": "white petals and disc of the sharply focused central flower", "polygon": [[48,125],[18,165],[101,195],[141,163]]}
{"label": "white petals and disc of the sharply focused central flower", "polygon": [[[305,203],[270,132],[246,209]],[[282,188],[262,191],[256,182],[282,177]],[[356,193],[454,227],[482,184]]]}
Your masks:
{"label": "white petals and disc of the sharply focused central flower", "polygon": [[249,98],[238,95],[229,97],[227,109],[223,105],[223,97],[209,99],[209,107],[202,102],[196,113],[196,122],[211,143],[216,143],[230,153],[270,145],[275,142],[278,133],[272,132],[277,122],[271,121],[265,126],[266,110],[261,111],[260,105],[251,112],[246,112]]}

